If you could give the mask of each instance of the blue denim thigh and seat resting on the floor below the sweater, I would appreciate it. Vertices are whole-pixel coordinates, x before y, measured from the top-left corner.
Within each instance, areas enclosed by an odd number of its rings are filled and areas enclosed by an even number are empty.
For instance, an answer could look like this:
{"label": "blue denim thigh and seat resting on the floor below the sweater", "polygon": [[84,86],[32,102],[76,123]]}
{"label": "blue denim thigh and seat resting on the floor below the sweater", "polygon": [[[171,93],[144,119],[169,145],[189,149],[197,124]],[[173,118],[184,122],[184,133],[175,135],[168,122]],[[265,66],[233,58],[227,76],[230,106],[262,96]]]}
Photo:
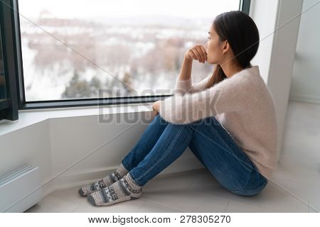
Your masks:
{"label": "blue denim thigh and seat resting on the floor below the sweater", "polygon": [[225,189],[235,194],[253,195],[257,191],[246,189],[263,187],[264,181],[254,163],[214,116],[201,119],[193,126],[191,151]]}

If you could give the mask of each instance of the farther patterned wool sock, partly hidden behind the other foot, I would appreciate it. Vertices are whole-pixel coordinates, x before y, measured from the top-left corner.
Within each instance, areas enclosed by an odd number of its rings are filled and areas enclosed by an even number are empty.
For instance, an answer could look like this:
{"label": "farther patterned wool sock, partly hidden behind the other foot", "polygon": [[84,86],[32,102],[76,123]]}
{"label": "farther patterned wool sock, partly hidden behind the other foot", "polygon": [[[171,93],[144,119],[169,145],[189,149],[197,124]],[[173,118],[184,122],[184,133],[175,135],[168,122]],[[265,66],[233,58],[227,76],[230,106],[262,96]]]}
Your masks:
{"label": "farther patterned wool sock, partly hidden behind the other foot", "polygon": [[127,175],[127,173],[128,173],[128,170],[126,170],[121,163],[121,165],[117,168],[117,170],[114,170],[114,172],[112,172],[110,175],[107,175],[107,177],[103,177],[98,182],[86,184],[85,186],[81,187],[79,189],[79,194],[81,196],[87,196],[87,194],[90,194],[99,189],[107,187],[114,182],[117,182],[119,179],[124,177],[124,175]]}

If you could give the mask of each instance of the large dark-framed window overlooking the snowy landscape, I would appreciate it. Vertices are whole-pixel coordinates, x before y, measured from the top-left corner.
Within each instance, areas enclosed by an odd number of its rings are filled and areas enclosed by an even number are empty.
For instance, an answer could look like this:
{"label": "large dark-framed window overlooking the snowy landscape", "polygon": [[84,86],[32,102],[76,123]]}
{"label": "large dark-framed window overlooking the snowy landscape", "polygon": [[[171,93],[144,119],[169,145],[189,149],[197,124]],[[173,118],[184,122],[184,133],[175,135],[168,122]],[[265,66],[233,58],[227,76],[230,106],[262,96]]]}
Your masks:
{"label": "large dark-framed window overlooking the snowy landscape", "polygon": [[[18,109],[156,101],[170,96],[192,45],[213,18],[249,0],[5,0]],[[4,18],[9,20],[9,18]],[[195,81],[212,67],[194,62]],[[1,91],[1,90],[0,90]],[[107,92],[100,92],[107,91]]]}

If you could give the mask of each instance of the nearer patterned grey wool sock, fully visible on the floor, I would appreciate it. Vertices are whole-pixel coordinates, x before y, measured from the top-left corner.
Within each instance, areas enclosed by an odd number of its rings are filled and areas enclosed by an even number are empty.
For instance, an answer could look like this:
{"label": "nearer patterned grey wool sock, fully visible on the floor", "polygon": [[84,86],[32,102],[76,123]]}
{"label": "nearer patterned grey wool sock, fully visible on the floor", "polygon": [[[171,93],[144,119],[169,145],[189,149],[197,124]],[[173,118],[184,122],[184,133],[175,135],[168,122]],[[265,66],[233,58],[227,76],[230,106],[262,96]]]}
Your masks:
{"label": "nearer patterned grey wool sock, fully visible on the floor", "polygon": [[142,196],[142,187],[136,184],[130,174],[108,187],[93,192],[87,196],[93,206],[109,206],[121,201],[138,199]]}

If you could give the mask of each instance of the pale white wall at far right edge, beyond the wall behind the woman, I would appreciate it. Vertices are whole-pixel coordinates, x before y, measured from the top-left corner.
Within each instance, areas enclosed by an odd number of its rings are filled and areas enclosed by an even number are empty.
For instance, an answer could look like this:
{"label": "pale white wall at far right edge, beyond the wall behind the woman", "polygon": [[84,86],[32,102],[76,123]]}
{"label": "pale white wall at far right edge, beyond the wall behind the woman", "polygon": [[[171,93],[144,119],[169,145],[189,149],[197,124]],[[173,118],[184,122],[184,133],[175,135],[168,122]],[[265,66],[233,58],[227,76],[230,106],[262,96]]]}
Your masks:
{"label": "pale white wall at far right edge, beyond the wall behind the woman", "polygon": [[[303,11],[317,0],[304,0]],[[302,15],[290,99],[320,104],[320,4]]]}

